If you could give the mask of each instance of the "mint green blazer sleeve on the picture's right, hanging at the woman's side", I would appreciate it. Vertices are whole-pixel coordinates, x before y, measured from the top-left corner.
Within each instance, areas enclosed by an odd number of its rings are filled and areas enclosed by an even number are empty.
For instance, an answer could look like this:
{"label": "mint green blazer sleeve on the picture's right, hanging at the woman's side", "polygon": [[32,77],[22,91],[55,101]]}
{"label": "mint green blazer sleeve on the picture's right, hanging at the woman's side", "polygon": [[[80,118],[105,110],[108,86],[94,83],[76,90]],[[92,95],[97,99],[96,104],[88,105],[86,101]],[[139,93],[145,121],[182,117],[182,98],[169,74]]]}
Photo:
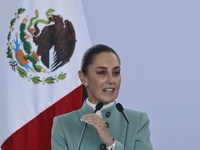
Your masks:
{"label": "mint green blazer sleeve on the picture's right, hanging at the woman's side", "polygon": [[146,113],[140,116],[140,128],[138,130],[134,150],[153,150],[150,142],[149,118]]}

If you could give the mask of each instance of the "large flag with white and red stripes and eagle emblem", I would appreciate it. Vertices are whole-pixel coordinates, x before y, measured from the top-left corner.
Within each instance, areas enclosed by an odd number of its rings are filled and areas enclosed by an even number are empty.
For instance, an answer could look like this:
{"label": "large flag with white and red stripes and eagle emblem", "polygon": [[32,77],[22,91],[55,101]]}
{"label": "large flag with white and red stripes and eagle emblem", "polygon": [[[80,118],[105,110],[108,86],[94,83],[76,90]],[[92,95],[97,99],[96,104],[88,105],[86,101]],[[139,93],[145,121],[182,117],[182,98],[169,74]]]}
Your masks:
{"label": "large flag with white and red stripes and eagle emblem", "polygon": [[78,70],[91,43],[81,0],[0,7],[1,149],[50,150],[53,118],[82,105]]}

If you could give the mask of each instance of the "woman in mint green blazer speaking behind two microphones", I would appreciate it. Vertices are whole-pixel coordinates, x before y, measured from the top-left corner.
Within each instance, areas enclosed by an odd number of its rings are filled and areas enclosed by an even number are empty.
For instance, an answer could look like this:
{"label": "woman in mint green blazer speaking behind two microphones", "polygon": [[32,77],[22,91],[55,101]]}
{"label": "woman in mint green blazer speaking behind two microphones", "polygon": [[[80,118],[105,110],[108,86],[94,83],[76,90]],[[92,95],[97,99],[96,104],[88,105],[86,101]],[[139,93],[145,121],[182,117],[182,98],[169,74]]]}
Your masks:
{"label": "woman in mint green blazer speaking behind two microphones", "polygon": [[[53,150],[122,150],[124,145],[127,150],[153,149],[145,113],[124,109],[129,122],[126,135],[127,121],[115,106],[120,72],[120,58],[112,48],[98,44],[85,52],[78,75],[88,98],[80,110],[54,118]],[[99,102],[103,107],[95,111]]]}

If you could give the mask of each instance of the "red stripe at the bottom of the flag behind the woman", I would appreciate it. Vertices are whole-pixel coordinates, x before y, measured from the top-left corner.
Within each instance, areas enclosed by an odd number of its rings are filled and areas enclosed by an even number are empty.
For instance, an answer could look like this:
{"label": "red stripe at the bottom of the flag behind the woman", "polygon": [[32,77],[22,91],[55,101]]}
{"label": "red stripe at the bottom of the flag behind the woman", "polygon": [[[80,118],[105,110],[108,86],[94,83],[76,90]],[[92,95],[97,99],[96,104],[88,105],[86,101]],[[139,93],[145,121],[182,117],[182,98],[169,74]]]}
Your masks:
{"label": "red stripe at the bottom of the flag behind the woman", "polygon": [[82,86],[79,86],[13,133],[2,144],[2,150],[50,150],[53,118],[81,106]]}

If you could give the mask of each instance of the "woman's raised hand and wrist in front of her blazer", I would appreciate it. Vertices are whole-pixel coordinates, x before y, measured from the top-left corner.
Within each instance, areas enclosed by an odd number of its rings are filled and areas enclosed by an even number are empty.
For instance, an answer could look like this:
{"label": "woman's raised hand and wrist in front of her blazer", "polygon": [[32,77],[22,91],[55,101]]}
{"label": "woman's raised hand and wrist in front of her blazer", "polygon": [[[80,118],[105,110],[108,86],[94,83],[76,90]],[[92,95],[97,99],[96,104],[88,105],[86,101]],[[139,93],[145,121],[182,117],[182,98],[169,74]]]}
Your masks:
{"label": "woman's raised hand and wrist in front of her blazer", "polygon": [[113,137],[107,128],[105,121],[97,114],[86,114],[81,118],[82,122],[92,125],[100,138],[100,140],[106,144],[107,147],[113,144]]}

